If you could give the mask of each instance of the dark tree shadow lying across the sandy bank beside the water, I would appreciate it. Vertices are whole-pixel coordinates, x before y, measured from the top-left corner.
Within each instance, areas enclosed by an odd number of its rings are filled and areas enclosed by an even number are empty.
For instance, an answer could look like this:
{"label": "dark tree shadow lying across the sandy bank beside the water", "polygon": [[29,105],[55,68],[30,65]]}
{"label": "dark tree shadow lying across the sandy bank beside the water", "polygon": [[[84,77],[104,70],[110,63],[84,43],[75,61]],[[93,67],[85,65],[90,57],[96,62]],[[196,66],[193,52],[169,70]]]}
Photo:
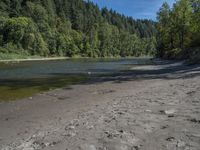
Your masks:
{"label": "dark tree shadow lying across the sandy bank beside the water", "polygon": [[[88,70],[93,72],[93,70]],[[123,70],[117,73],[93,77],[90,83],[113,81],[120,83],[133,80],[151,79],[186,79],[200,75],[200,64],[187,65],[182,62],[168,62],[159,65],[132,67],[131,70]]]}

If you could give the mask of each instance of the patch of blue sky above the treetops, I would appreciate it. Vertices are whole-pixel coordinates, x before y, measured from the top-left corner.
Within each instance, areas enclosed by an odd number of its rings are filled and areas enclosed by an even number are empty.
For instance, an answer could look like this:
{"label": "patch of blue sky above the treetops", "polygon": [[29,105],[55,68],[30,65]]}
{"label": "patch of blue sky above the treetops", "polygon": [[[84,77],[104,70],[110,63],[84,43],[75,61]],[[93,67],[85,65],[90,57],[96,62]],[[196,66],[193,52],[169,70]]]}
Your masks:
{"label": "patch of blue sky above the treetops", "polygon": [[107,7],[135,19],[156,20],[156,12],[163,2],[171,6],[175,0],[90,0],[97,3],[100,8]]}

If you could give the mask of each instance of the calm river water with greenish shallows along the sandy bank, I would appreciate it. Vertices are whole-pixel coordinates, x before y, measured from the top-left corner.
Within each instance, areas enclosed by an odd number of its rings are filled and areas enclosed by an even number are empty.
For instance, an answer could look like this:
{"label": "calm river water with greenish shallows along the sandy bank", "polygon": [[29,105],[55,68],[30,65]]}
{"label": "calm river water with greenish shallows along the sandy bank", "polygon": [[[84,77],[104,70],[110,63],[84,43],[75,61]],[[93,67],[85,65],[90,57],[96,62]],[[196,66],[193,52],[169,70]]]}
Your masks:
{"label": "calm river water with greenish shallows along the sandy bank", "polygon": [[149,58],[69,59],[0,64],[0,101],[16,100],[59,87],[87,82],[91,76],[112,75]]}

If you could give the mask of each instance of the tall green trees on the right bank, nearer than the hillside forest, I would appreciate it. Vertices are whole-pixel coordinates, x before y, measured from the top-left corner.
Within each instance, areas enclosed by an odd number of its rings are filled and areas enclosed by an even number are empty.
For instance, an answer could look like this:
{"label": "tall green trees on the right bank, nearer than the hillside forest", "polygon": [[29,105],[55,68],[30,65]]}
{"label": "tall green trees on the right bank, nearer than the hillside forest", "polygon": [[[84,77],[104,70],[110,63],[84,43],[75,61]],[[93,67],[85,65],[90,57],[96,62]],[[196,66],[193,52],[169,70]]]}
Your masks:
{"label": "tall green trees on the right bank, nearer than the hillside forest", "polygon": [[157,20],[159,57],[200,62],[200,0],[164,3]]}

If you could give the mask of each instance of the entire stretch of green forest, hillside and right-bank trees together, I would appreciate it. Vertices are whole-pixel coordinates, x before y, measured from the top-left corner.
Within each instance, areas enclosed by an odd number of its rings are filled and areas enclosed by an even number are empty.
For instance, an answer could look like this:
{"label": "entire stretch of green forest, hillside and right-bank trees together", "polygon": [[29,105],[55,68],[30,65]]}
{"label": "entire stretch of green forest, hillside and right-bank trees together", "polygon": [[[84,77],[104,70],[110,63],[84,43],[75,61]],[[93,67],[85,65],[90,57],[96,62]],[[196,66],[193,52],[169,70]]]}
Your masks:
{"label": "entire stretch of green forest, hillside and right-bank trees together", "polygon": [[157,21],[83,0],[1,0],[0,57],[126,57],[200,60],[200,0],[165,2]]}

